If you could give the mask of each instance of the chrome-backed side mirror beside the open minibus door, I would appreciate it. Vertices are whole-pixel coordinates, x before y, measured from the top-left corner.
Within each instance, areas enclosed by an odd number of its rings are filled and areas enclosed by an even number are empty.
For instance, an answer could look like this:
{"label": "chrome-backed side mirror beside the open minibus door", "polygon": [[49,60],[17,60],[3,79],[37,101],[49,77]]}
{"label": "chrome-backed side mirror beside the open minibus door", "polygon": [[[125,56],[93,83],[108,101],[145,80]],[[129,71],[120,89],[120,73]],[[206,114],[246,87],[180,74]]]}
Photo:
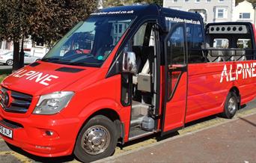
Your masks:
{"label": "chrome-backed side mirror beside the open minibus door", "polygon": [[124,73],[137,73],[138,68],[134,52],[124,52],[122,71]]}

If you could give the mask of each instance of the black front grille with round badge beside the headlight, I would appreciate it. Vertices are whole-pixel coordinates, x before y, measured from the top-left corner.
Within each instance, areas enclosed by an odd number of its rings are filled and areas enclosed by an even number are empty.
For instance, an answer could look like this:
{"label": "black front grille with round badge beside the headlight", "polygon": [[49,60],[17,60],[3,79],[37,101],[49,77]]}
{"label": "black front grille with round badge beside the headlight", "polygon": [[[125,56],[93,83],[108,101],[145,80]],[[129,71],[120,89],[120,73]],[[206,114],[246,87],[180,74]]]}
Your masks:
{"label": "black front grille with round badge beside the headlight", "polygon": [[31,105],[32,96],[1,87],[0,105],[4,111],[25,114]]}

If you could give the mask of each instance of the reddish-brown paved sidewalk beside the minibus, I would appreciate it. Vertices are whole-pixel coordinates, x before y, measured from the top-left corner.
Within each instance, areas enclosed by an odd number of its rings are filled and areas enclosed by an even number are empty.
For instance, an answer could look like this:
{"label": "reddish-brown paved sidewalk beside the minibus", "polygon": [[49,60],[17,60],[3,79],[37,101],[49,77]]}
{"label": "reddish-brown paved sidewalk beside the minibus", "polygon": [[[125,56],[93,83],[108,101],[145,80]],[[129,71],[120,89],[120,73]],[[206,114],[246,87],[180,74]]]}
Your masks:
{"label": "reddish-brown paved sidewalk beside the minibus", "polygon": [[256,162],[256,114],[98,162]]}

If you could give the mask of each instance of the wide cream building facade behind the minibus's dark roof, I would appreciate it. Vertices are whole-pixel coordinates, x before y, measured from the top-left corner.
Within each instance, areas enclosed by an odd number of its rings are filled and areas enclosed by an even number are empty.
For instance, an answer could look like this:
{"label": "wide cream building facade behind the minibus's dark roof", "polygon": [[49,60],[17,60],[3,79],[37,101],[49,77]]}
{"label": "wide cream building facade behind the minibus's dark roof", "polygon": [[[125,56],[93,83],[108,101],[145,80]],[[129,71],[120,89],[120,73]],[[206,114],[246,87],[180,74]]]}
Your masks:
{"label": "wide cream building facade behind the minibus's dark roof", "polygon": [[204,23],[231,22],[235,0],[164,0],[163,7],[200,13]]}

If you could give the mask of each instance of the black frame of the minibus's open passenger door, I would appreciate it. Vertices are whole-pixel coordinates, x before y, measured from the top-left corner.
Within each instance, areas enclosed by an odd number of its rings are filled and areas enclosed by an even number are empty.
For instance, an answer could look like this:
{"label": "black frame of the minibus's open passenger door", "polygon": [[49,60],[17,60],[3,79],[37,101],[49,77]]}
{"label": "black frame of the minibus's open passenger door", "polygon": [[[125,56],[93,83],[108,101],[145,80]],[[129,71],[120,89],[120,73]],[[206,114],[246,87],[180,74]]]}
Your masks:
{"label": "black frame of the minibus's open passenger door", "polygon": [[[182,26],[183,27],[183,34],[184,34],[184,46],[185,46],[185,67],[178,67],[180,70],[182,70],[182,73],[180,74],[180,76],[177,79],[177,83],[174,86],[174,90],[171,93],[170,98],[168,98],[168,72],[169,72],[169,68],[168,68],[168,62],[167,62],[167,40],[168,37],[170,37],[171,34],[174,33],[174,30],[176,30],[178,27]],[[179,129],[183,129],[184,125],[185,125],[185,120],[186,120],[186,109],[187,109],[187,98],[188,98],[188,84],[189,84],[189,76],[188,76],[188,45],[187,45],[187,37],[186,37],[186,23],[184,22],[177,22],[173,27],[171,27],[171,30],[168,32],[168,34],[165,37],[164,40],[164,56],[165,56],[165,87],[163,89],[165,89],[165,97],[164,97],[164,102],[163,102],[163,106],[162,106],[162,124],[161,124],[161,136],[163,135],[168,135],[171,132],[176,132]],[[184,116],[184,120],[183,120],[183,126],[177,127],[175,129],[171,129],[168,130],[166,132],[164,132],[164,126],[165,126],[165,114],[166,114],[166,104],[167,102],[171,102],[172,97],[174,96],[174,93],[176,93],[177,90],[177,85],[180,82],[180,78],[183,75],[183,73],[186,72],[186,104],[185,104],[185,116]]]}

